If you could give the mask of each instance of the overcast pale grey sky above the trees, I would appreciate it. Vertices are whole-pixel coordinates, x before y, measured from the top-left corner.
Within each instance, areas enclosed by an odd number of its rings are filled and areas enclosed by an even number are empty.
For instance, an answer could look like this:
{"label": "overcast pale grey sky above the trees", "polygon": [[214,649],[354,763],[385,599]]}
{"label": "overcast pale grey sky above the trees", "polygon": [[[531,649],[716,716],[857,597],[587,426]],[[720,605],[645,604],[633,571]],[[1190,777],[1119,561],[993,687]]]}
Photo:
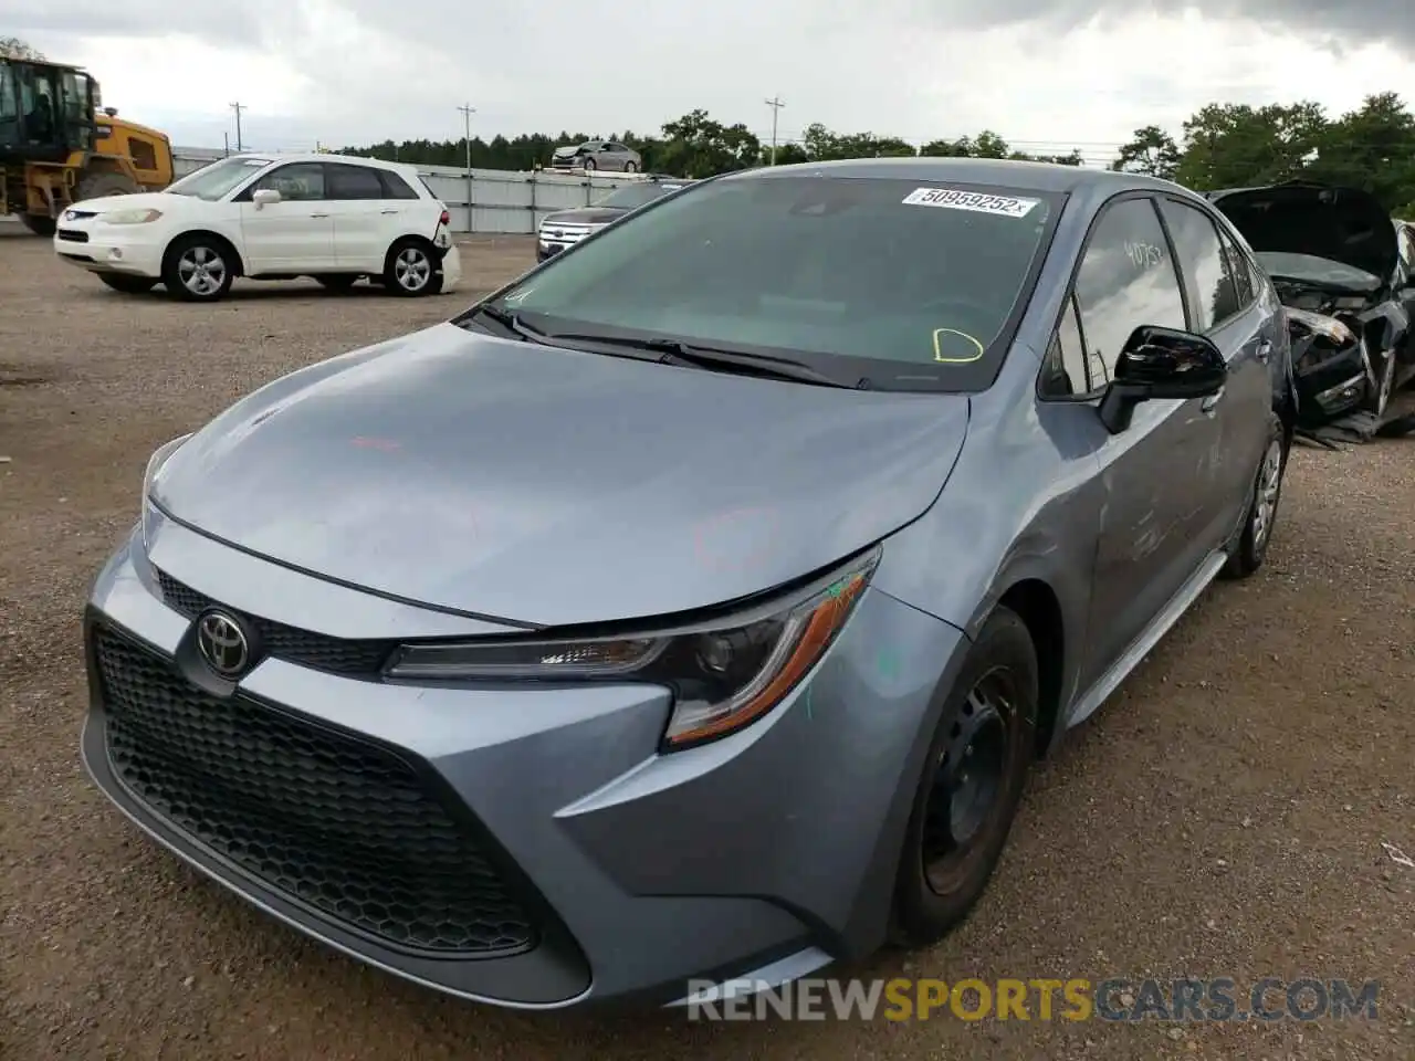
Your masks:
{"label": "overcast pale grey sky above the trees", "polygon": [[[181,146],[657,130],[693,108],[923,141],[992,129],[1104,156],[1211,100],[1415,103],[1411,0],[0,0],[0,35],[86,65]],[[924,11],[928,11],[927,14]]]}

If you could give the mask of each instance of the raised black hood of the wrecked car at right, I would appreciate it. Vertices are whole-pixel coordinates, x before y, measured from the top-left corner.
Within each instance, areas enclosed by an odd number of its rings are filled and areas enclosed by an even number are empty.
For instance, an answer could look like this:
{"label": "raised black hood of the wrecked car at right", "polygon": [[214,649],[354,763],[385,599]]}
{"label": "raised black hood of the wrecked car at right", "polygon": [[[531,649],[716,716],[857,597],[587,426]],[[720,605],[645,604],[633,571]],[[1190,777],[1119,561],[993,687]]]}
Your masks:
{"label": "raised black hood of the wrecked car at right", "polygon": [[1208,194],[1254,250],[1341,262],[1388,280],[1399,256],[1390,211],[1360,188],[1276,184]]}

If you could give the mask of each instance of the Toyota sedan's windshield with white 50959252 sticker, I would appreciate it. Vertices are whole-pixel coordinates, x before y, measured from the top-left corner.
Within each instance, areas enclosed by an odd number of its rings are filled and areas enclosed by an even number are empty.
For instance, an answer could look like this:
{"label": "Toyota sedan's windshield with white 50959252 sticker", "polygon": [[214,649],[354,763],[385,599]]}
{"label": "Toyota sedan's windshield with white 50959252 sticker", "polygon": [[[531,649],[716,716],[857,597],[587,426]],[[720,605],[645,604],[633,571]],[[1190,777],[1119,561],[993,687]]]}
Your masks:
{"label": "Toyota sedan's windshield with white 50959252 sticker", "polygon": [[998,372],[1061,201],[896,178],[705,181],[552,259],[504,303],[543,314],[548,331],[777,351],[873,386],[975,390]]}

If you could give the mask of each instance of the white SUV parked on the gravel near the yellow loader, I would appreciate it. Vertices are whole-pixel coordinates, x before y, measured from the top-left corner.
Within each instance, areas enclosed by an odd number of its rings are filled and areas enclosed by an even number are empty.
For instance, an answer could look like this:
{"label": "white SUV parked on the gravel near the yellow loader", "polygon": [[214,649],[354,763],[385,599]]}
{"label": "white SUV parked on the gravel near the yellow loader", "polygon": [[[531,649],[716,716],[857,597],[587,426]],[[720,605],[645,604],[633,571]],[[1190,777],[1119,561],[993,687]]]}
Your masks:
{"label": "white SUV parked on the gravel near the yellow loader", "polygon": [[161,283],[215,301],[236,276],[313,276],[342,290],[359,277],[403,296],[461,277],[447,208],[412,166],[340,154],[236,154],[139,195],[75,202],[54,250],[117,291]]}

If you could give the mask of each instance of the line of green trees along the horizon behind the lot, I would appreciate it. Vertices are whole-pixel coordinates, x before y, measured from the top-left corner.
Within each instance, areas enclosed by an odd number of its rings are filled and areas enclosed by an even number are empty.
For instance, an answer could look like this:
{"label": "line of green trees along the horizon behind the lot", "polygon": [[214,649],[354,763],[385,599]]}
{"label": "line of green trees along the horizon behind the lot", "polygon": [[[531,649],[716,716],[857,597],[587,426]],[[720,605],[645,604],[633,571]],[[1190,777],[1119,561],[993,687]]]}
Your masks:
{"label": "line of green trees along the horizon behind the lot", "polygon": [[[546,166],[556,147],[584,140],[617,140],[644,157],[649,173],[710,177],[763,166],[771,147],[740,122],[723,124],[706,110],[668,122],[657,136],[623,132],[590,136],[562,132],[471,141],[471,164],[487,170],[533,170]],[[345,147],[347,154],[396,158],[422,166],[464,166],[466,140],[385,140]],[[799,140],[778,144],[777,164],[860,157],[965,156],[1020,158],[1080,166],[1081,151],[1036,156],[1015,151],[998,133],[983,130],[958,140],[916,146],[897,136],[838,133],[821,123]],[[1159,126],[1136,129],[1121,146],[1111,168],[1148,173],[1196,191],[1234,188],[1303,178],[1373,192],[1397,216],[1415,219],[1415,115],[1395,92],[1367,96],[1360,108],[1332,116],[1320,103],[1210,103],[1184,122],[1179,137]]]}

